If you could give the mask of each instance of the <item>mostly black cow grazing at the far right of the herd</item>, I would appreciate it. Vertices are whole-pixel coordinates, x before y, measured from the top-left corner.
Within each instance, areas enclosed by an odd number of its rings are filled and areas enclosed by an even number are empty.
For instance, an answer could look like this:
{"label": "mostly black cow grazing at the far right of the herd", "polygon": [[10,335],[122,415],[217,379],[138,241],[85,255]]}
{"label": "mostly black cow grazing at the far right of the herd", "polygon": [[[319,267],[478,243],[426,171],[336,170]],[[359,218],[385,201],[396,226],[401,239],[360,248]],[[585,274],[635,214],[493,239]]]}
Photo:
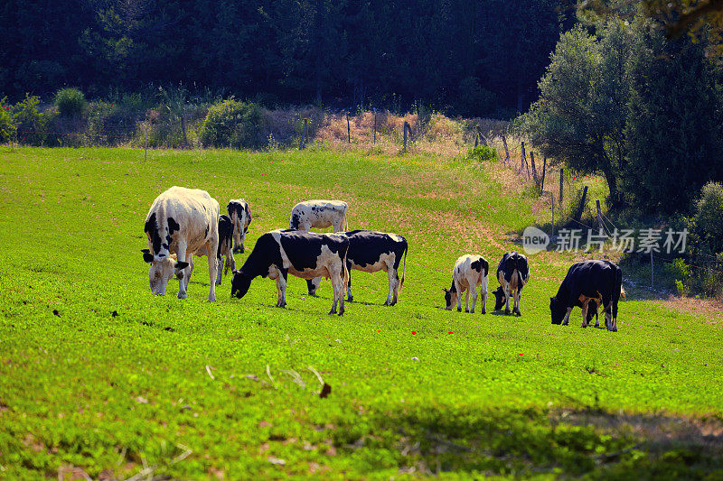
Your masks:
{"label": "mostly black cow grazing at the far right of the herd", "polygon": [[568,325],[570,312],[575,306],[582,308],[582,327],[592,319],[599,327],[597,311],[605,312],[607,330],[617,330],[617,301],[623,291],[623,271],[610,261],[583,261],[572,266],[559,286],[558,293],[549,298],[553,324]]}

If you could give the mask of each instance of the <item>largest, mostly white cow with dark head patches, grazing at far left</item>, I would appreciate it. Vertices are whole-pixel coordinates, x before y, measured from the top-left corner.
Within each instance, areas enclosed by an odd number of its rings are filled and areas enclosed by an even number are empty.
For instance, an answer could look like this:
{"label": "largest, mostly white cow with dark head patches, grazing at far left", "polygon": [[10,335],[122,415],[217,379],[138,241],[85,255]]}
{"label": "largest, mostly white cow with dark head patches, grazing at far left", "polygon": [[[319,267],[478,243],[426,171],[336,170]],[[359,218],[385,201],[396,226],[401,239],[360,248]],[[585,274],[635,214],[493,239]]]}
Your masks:
{"label": "largest, mostly white cow with dark head patches, grazing at far left", "polygon": [[[148,248],[142,252],[143,260],[151,264],[151,291],[165,295],[165,287],[175,274],[179,280],[178,299],[185,299],[193,254],[215,253],[219,248],[219,203],[205,190],[174,186],[155,198],[146,217],[145,231]],[[218,262],[215,255],[208,258],[209,301],[214,302]]]}

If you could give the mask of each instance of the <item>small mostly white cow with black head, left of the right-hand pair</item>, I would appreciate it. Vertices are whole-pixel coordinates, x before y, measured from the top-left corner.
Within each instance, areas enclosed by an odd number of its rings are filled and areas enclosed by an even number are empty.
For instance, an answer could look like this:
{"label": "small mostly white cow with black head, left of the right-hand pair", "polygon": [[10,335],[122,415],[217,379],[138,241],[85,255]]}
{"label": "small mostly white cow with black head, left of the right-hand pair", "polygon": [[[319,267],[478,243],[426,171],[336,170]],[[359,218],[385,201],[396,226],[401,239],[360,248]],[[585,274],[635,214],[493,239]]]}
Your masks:
{"label": "small mostly white cow with black head, left of the right-hand pair", "polygon": [[[462,292],[465,296],[465,312],[474,313],[474,306],[477,304],[477,286],[481,286],[482,313],[486,312],[487,306],[487,283],[490,264],[484,260],[482,255],[465,254],[457,259],[455,268],[452,270],[452,287],[443,289],[445,291],[445,310],[452,310],[454,304],[457,311],[462,311]],[[469,309],[469,293],[472,291],[472,310]]]}

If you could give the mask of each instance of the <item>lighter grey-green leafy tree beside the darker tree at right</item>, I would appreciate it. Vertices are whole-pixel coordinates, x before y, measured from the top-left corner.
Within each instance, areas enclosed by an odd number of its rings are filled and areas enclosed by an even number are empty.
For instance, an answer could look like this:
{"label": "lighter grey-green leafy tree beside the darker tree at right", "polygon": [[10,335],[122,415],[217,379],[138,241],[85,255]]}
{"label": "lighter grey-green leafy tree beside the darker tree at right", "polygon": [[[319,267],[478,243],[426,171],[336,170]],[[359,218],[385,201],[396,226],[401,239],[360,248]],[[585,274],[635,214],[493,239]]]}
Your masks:
{"label": "lighter grey-green leafy tree beside the darker tree at right", "polygon": [[623,202],[632,51],[634,35],[620,23],[606,26],[600,41],[579,27],[563,34],[538,84],[540,100],[522,117],[542,153],[580,172],[602,172],[611,205]]}

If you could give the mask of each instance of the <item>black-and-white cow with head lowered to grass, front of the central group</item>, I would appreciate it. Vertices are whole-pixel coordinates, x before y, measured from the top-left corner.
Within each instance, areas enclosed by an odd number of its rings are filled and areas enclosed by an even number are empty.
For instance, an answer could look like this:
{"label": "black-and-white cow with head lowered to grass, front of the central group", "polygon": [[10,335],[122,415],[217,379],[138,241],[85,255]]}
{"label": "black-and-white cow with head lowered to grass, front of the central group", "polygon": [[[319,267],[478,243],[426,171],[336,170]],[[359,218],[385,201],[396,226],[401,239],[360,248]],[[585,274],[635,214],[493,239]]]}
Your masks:
{"label": "black-and-white cow with head lowered to grass, front of the central group", "polygon": [[344,313],[344,286],[349,279],[345,260],[349,239],[336,234],[316,234],[301,230],[274,230],[258,237],[249,258],[239,271],[233,272],[231,297],[241,299],[249,291],[251,281],[268,277],[277,282],[277,307],[286,306],[286,276],[302,279],[324,276],[331,279],[333,305],[329,314]]}

